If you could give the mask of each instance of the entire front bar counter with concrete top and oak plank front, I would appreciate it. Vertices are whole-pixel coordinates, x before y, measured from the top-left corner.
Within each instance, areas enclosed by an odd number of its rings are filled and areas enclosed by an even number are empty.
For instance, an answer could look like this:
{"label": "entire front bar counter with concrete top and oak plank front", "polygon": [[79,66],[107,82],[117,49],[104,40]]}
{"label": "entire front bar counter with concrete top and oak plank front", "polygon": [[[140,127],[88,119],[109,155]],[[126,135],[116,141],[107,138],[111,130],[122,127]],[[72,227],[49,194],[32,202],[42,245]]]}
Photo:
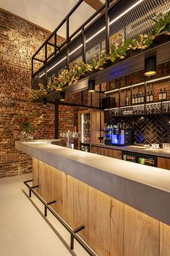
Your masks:
{"label": "entire front bar counter with concrete top and oak plank front", "polygon": [[99,256],[170,255],[170,171],[41,141],[16,141],[33,157],[33,186]]}

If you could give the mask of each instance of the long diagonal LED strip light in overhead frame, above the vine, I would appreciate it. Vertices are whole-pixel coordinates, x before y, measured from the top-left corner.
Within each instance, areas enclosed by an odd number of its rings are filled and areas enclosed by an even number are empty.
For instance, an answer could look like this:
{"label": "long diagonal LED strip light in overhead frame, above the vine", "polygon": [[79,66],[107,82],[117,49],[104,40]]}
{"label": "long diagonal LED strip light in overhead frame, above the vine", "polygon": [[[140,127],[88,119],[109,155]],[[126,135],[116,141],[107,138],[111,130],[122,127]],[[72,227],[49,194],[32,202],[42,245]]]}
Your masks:
{"label": "long diagonal LED strip light in overhead frame, above the vine", "polygon": [[[132,5],[132,7],[129,7],[126,11],[122,12],[121,15],[117,16],[114,20],[111,20],[111,22],[109,22],[109,25],[112,25],[116,20],[119,20],[120,17],[124,16],[127,14],[127,12],[129,12],[130,10],[132,10],[133,8],[135,8],[138,4],[140,4],[141,2],[143,2],[144,0],[140,0],[137,1],[135,4]],[[101,28],[101,30],[98,30],[98,32],[96,32],[93,36],[91,36],[90,38],[88,38],[85,43],[88,43],[91,39],[93,39],[95,36],[98,36],[99,33],[101,33],[103,30],[105,30],[106,26],[104,26],[103,28]],[[78,46],[75,50],[71,51],[69,53],[69,56],[71,56],[75,51],[77,51],[78,49],[80,49],[82,47],[82,44],[80,44],[80,46]],[[64,59],[67,59],[67,57],[64,57],[63,59],[61,59],[59,62],[56,62],[56,64],[52,67],[50,67],[47,70],[47,73],[52,70],[54,67],[56,67],[57,65],[59,65],[59,63],[63,62]],[[45,75],[45,72],[39,76],[39,78],[42,78],[43,75]]]}

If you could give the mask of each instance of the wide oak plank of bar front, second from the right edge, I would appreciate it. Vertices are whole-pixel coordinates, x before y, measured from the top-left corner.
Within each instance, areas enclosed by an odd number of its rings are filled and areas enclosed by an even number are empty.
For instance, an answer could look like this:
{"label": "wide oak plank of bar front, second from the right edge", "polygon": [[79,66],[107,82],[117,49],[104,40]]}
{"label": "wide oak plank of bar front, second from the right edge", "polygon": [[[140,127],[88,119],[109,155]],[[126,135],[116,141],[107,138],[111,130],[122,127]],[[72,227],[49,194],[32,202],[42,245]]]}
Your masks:
{"label": "wide oak plank of bar front, second from the right edge", "polygon": [[159,221],[124,205],[124,256],[159,256]]}

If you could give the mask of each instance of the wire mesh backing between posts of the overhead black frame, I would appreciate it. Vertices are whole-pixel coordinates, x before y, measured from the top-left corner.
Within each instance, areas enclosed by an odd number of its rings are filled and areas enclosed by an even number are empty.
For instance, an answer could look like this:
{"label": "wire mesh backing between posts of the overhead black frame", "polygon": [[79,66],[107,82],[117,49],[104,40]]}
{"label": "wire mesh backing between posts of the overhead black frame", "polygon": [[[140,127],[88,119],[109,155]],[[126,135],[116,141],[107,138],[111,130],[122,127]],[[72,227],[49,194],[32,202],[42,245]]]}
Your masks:
{"label": "wire mesh backing between posts of the overhead black frame", "polygon": [[[160,12],[167,12],[169,10],[169,0],[144,0],[129,10],[129,12],[122,15],[122,13],[126,12],[127,9],[136,3],[137,0],[122,0],[115,7],[110,9],[110,41],[117,32],[121,33],[124,38],[137,38],[140,34],[150,32],[153,30],[153,26],[155,24],[154,18],[156,15]],[[119,15],[122,15],[122,17],[119,17]],[[117,17],[119,17],[119,19],[116,20]],[[103,28],[105,28],[105,15],[99,17],[98,20],[91,24],[85,31],[85,59],[87,63],[93,59],[94,54],[99,57],[101,50],[105,49],[106,31]],[[69,64],[76,59],[82,59],[81,44],[82,36],[80,35],[75,39],[75,41],[72,41],[72,44],[69,45],[69,52],[72,52],[72,54],[69,54]],[[40,54],[42,54],[42,52]],[[51,79],[51,76],[53,75],[58,76],[61,70],[66,68],[66,55],[66,49],[63,49],[63,51],[59,52],[59,54],[57,54],[56,57],[48,64],[48,79]],[[56,63],[58,64],[56,65]],[[54,65],[55,67],[53,67]],[[39,78],[41,77],[41,74],[39,75]],[[44,77],[41,79],[44,83],[43,79]],[[36,85],[37,80],[35,82],[35,87]]]}

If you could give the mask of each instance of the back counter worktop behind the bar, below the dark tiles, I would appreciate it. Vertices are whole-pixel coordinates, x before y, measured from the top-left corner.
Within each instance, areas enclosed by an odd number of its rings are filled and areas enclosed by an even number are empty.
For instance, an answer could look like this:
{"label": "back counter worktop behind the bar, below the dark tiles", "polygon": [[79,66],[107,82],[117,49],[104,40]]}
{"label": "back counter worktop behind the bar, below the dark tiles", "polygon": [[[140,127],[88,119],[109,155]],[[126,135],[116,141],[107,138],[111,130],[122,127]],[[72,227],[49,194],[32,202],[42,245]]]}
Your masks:
{"label": "back counter worktop behind the bar, below the dark tiles", "polygon": [[155,155],[156,157],[166,157],[170,158],[170,150],[165,149],[145,149],[144,146],[109,146],[105,145],[103,143],[92,143],[90,146],[101,146],[106,149],[116,149],[121,151],[127,151],[127,152],[134,152],[134,153],[140,153],[140,154],[150,154]]}

